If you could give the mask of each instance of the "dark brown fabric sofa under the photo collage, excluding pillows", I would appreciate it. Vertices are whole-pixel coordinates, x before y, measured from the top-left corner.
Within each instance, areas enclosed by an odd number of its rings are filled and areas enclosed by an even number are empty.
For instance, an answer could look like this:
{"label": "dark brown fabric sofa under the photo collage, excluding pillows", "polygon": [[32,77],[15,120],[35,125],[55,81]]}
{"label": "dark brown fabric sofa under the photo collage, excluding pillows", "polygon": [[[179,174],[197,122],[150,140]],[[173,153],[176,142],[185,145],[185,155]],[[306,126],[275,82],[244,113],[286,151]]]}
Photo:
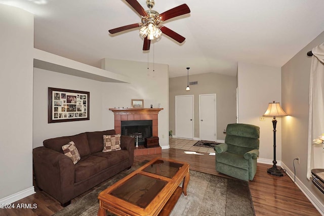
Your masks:
{"label": "dark brown fabric sofa under the photo collage, excluding pillows", "polygon": [[[134,162],[134,138],[121,136],[121,150],[102,152],[103,135],[114,134],[114,130],[108,130],[45,140],[44,146],[33,149],[37,187],[66,206],[76,196],[130,168]],[[70,141],[81,157],[75,165],[62,150]]]}

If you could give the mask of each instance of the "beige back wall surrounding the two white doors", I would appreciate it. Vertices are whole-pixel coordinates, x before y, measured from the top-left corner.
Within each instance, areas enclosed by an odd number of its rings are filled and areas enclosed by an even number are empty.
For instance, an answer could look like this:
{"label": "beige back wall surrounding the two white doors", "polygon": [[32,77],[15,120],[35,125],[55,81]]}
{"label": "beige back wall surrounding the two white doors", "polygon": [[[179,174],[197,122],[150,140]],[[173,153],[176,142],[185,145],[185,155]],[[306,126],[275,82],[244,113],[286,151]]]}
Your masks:
{"label": "beige back wall surrounding the two white doors", "polygon": [[186,92],[187,76],[169,78],[170,122],[169,128],[175,134],[175,96],[194,95],[194,138],[199,138],[199,94],[216,94],[217,140],[224,140],[223,129],[228,123],[236,122],[236,77],[218,73],[189,75],[189,82],[198,81],[198,85],[190,85]]}

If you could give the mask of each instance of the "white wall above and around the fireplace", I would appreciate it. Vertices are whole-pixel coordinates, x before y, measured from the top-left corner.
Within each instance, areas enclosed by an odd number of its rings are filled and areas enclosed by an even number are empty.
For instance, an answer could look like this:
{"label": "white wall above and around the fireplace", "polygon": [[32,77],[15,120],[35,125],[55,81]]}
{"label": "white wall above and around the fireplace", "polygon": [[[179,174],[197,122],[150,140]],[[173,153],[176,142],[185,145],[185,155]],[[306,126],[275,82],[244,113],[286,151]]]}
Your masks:
{"label": "white wall above and around the fireplace", "polygon": [[144,99],[144,107],[160,103],[164,110],[158,113],[158,137],[162,148],[169,148],[169,72],[168,65],[127,60],[103,59],[102,69],[131,77],[132,83],[104,83],[103,127],[114,126],[114,115],[109,108],[131,107],[132,99]]}

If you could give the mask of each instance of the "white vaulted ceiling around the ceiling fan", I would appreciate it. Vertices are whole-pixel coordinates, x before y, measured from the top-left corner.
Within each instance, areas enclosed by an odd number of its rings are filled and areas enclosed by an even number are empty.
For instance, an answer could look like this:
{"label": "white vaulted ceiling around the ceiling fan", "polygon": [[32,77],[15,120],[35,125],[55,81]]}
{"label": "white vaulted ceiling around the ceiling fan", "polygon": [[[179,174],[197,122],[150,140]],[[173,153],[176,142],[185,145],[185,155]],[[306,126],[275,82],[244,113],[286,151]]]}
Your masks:
{"label": "white vaulted ceiling around the ceiling fan", "polygon": [[[138,0],[148,10],[145,0]],[[141,21],[125,0],[0,0],[35,15],[34,47],[100,67],[103,58],[169,65],[169,76],[216,72],[235,75],[237,62],[281,67],[324,31],[322,0],[155,0],[162,13],[187,4],[190,14],[163,25],[186,37],[162,35],[142,51]],[[324,42],[324,41],[323,41]],[[306,53],[305,53],[306,56]]]}

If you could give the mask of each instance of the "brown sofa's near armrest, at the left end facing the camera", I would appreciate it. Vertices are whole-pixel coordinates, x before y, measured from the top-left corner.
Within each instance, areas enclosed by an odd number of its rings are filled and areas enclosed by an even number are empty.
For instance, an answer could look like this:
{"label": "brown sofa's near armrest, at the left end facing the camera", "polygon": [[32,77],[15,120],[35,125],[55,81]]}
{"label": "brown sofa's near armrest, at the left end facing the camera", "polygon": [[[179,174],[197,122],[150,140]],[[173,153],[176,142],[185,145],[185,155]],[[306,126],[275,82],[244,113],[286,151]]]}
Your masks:
{"label": "brown sofa's near armrest, at the left end facing the camera", "polygon": [[36,184],[61,203],[73,198],[74,164],[72,160],[44,146],[32,150]]}

